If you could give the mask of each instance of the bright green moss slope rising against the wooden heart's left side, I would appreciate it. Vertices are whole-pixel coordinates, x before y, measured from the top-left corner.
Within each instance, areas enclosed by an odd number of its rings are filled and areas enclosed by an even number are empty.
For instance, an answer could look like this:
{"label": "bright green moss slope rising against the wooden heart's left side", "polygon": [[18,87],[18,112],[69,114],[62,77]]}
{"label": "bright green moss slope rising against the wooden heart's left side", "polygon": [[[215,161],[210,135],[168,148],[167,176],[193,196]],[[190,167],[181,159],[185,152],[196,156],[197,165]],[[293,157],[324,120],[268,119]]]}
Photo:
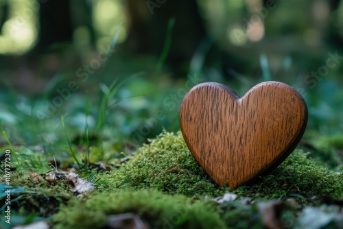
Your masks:
{"label": "bright green moss slope rising against the wooden heart's left side", "polygon": [[[158,189],[165,193],[184,195],[222,195],[228,189],[220,188],[210,180],[194,160],[180,132],[175,136],[163,132],[149,145],[143,145],[137,154],[119,170],[102,176],[110,190]],[[108,189],[104,186],[104,189]]]}

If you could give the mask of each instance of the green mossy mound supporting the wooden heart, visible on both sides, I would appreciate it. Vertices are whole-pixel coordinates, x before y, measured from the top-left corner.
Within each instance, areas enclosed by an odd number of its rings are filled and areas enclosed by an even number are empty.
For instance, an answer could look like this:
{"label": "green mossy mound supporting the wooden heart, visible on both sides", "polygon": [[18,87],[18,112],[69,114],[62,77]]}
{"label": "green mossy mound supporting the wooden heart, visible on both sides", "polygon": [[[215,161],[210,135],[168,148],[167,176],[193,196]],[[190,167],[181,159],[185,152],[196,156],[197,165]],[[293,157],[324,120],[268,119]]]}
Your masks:
{"label": "green mossy mound supporting the wooden heart, visible on both sides", "polygon": [[[297,193],[304,197],[314,195],[343,196],[343,175],[318,165],[310,153],[295,150],[272,173],[255,184],[231,190],[252,197],[282,197]],[[143,145],[117,171],[102,176],[106,185],[102,191],[119,189],[157,189],[165,193],[187,196],[219,196],[230,191],[218,187],[191,156],[182,134],[163,132],[150,144]]]}

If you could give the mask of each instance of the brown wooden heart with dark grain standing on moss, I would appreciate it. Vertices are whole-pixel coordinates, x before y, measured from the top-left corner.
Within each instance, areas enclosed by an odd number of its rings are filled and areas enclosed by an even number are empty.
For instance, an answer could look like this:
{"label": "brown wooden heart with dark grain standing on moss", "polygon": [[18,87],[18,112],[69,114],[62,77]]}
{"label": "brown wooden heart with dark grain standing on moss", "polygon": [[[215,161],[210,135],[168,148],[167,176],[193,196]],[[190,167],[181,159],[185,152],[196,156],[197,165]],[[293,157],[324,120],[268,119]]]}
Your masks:
{"label": "brown wooden heart with dark grain standing on moss", "polygon": [[182,135],[194,158],[217,184],[232,189],[283,162],[306,124],[303,97],[281,82],[257,84],[241,98],[223,84],[198,84],[180,107]]}

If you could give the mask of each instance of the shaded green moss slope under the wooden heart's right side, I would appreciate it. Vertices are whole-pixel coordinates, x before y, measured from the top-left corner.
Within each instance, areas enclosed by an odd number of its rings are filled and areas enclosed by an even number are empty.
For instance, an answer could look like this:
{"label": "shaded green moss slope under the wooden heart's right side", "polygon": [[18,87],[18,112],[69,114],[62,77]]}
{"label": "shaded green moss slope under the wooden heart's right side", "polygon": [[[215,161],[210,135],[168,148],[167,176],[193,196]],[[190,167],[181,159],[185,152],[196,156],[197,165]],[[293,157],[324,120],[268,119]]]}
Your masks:
{"label": "shaded green moss slope under the wooden heart's right side", "polygon": [[309,153],[296,150],[272,173],[236,192],[253,197],[283,197],[290,193],[343,197],[343,174],[329,171],[308,157]]}

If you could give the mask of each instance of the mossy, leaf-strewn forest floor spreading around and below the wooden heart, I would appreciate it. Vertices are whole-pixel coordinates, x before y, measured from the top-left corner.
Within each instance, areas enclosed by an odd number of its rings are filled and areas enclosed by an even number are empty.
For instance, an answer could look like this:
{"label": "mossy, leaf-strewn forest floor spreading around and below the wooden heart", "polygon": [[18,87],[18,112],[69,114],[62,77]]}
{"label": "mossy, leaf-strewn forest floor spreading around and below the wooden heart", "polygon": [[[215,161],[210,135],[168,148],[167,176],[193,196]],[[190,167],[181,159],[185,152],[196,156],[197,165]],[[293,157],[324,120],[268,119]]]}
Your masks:
{"label": "mossy, leaf-strewn forest floor spreading around and below the wooden heart", "polygon": [[60,152],[13,145],[3,132],[2,228],[342,228],[342,135],[302,141],[274,171],[231,190],[204,173],[180,132],[122,153],[111,138],[70,138],[64,117],[60,125]]}

